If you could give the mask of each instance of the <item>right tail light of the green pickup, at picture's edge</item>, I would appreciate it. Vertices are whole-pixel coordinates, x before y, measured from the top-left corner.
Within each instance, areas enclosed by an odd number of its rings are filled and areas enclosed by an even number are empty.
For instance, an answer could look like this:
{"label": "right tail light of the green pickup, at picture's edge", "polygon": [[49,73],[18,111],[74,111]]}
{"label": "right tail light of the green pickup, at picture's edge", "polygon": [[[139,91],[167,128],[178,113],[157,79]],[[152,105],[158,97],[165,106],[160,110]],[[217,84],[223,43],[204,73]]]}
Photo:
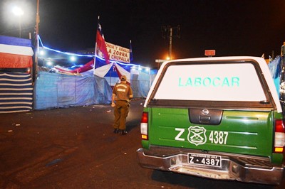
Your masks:
{"label": "right tail light of the green pickup, at picture's edge", "polygon": [[275,120],[274,152],[283,153],[285,144],[285,127],[282,119]]}

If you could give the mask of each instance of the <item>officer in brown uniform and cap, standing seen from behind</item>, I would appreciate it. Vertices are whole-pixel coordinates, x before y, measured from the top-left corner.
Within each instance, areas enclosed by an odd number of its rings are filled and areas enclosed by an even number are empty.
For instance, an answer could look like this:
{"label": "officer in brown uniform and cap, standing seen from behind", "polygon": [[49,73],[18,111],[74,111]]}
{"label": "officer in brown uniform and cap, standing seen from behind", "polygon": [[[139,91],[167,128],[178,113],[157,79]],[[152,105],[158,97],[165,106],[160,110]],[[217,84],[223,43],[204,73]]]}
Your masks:
{"label": "officer in brown uniform and cap, standing seen from behind", "polygon": [[125,130],[125,122],[128,117],[130,99],[133,98],[133,91],[130,85],[127,84],[127,77],[122,75],[120,83],[113,88],[112,107],[114,109],[114,133],[125,135],[128,132]]}

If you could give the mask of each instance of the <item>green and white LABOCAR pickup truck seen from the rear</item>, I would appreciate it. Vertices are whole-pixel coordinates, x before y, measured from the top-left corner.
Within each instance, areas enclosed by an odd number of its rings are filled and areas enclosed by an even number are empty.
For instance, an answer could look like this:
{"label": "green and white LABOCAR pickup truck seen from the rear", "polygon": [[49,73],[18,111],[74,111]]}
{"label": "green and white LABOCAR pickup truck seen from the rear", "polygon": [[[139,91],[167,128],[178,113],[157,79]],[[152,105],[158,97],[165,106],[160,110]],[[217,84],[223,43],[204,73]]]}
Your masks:
{"label": "green and white LABOCAR pickup truck seen from the rear", "polygon": [[263,58],[163,63],[140,131],[145,168],[272,185],[283,177],[284,115]]}

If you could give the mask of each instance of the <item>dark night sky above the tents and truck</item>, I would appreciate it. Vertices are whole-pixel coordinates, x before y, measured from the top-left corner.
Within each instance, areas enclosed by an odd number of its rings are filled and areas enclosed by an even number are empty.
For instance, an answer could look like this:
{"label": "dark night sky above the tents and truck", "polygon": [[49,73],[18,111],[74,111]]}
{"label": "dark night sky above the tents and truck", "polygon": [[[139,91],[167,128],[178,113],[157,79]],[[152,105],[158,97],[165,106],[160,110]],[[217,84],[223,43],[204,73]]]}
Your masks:
{"label": "dark night sky above the tents and truck", "polygon": [[[11,15],[14,0],[0,0],[0,35],[19,36],[19,21]],[[36,0],[21,0],[21,36],[28,38],[36,24]],[[180,25],[172,38],[173,58],[280,55],[285,41],[284,0],[40,0],[39,35],[44,45],[63,51],[95,48],[100,16],[105,41],[129,48],[134,62],[154,67],[165,59],[169,39],[162,27]]]}

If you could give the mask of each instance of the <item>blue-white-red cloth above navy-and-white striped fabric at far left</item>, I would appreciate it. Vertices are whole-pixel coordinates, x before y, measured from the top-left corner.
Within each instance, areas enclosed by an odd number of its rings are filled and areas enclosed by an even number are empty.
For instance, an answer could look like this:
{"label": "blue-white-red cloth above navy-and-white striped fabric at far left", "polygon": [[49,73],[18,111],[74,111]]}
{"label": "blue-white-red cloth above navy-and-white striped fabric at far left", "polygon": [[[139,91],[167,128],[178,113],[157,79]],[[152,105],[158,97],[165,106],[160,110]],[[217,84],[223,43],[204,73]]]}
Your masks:
{"label": "blue-white-red cloth above navy-and-white striped fabric at far left", "polygon": [[0,113],[33,109],[31,74],[19,72],[32,67],[32,56],[31,40],[0,36]]}

